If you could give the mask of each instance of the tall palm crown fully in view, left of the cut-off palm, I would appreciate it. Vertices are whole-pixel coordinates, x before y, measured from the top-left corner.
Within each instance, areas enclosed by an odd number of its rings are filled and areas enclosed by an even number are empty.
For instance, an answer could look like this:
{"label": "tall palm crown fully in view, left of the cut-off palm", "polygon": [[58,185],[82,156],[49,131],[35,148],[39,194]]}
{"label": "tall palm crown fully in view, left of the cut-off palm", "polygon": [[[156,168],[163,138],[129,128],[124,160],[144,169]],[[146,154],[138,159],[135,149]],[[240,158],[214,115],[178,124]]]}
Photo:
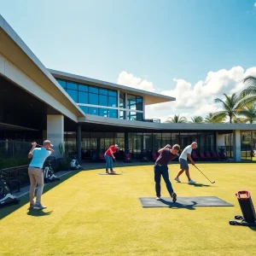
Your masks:
{"label": "tall palm crown fully in view, left of the cut-off palm", "polygon": [[215,99],[215,102],[222,103],[224,110],[218,111],[212,115],[212,119],[225,119],[229,117],[230,124],[232,124],[232,120],[236,119],[236,111],[240,108],[240,100],[239,96],[236,96],[236,93],[233,93],[231,96],[227,96],[224,93],[225,100],[221,100],[219,98]]}

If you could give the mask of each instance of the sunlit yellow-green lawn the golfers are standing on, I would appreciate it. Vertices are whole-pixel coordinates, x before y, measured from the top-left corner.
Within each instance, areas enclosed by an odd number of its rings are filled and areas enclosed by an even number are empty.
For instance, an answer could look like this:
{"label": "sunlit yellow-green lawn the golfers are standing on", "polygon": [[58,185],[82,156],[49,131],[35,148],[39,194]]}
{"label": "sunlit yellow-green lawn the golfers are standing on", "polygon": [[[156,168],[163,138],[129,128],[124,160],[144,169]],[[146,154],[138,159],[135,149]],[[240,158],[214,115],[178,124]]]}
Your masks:
{"label": "sunlit yellow-green lawn the golfers are standing on", "polygon": [[216,183],[195,167],[199,185],[185,176],[176,183],[178,165],[170,165],[177,200],[216,195],[235,207],[143,208],[138,197],[155,196],[153,166],[123,167],[119,176],[73,172],[45,187],[44,211],[28,211],[27,196],[20,207],[0,209],[0,255],[256,255],[256,229],[229,224],[241,214],[236,191],[250,191],[256,207],[255,164],[198,167]]}

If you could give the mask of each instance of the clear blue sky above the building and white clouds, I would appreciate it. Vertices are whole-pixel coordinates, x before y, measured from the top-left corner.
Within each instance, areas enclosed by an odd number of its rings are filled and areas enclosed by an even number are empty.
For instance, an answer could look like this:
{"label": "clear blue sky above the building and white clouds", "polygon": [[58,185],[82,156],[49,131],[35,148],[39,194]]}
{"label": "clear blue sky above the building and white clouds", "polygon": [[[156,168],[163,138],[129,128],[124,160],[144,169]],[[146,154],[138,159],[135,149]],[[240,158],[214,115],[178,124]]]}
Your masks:
{"label": "clear blue sky above the building and white clouds", "polygon": [[0,0],[0,14],[45,67],[156,92],[176,79],[255,66],[254,0]]}

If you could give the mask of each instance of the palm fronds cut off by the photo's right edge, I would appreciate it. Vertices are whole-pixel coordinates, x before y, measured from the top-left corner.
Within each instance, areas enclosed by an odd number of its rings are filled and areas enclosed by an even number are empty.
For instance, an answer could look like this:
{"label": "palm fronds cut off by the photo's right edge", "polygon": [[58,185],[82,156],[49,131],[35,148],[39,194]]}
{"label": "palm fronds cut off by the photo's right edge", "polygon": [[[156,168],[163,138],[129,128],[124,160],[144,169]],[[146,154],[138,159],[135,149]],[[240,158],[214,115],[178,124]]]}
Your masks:
{"label": "palm fronds cut off by the photo's right edge", "polygon": [[248,76],[243,80],[248,84],[247,89],[241,91],[241,105],[251,104],[256,102],[256,78]]}

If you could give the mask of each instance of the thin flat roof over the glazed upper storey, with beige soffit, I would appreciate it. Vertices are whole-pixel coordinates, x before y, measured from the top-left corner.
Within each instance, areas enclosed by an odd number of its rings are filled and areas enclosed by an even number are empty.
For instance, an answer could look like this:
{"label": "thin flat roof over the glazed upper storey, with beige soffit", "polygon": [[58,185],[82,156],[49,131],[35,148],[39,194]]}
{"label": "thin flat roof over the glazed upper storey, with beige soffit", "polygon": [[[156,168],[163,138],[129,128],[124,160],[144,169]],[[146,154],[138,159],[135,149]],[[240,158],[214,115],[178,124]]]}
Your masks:
{"label": "thin flat roof over the glazed upper storey, with beige soffit", "polygon": [[125,85],[120,84],[113,84],[109,82],[105,82],[98,79],[90,79],[83,76],[79,76],[73,73],[65,73],[53,69],[49,69],[49,72],[56,78],[56,79],[67,79],[73,82],[81,83],[81,84],[90,84],[96,85],[102,88],[108,88],[112,90],[122,90],[129,94],[135,94],[137,96],[143,96],[145,105],[152,105],[156,103],[162,102],[172,102],[176,101],[176,98],[171,96],[165,96],[158,93],[150,92],[147,90],[139,90],[136,88],[132,88]]}

